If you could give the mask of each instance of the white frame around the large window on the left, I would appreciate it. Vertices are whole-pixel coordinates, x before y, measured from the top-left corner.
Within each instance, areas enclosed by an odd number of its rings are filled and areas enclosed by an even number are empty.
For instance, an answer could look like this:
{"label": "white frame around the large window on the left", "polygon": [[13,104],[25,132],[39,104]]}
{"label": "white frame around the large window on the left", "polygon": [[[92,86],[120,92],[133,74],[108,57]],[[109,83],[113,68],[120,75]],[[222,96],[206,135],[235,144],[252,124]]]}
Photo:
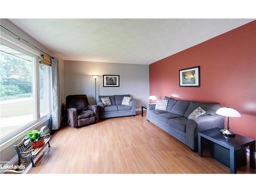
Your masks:
{"label": "white frame around the large window on the left", "polygon": [[[0,41],[7,46],[14,48],[20,52],[23,52],[27,55],[33,57],[33,121],[25,124],[22,127],[19,127],[17,130],[10,132],[8,135],[0,138],[0,152],[4,150],[4,148],[8,147],[7,144],[9,142],[15,142],[16,140],[24,137],[24,135],[30,131],[31,129],[35,129],[36,126],[39,126],[41,123],[46,122],[50,119],[51,114],[51,97],[52,97],[52,83],[51,78],[49,79],[49,113],[40,117],[40,84],[39,84],[39,58],[41,53],[35,51],[34,49],[28,47],[27,45],[20,42],[18,39],[15,39],[9,36],[6,33],[0,34]],[[48,70],[49,77],[51,77],[51,69]]]}

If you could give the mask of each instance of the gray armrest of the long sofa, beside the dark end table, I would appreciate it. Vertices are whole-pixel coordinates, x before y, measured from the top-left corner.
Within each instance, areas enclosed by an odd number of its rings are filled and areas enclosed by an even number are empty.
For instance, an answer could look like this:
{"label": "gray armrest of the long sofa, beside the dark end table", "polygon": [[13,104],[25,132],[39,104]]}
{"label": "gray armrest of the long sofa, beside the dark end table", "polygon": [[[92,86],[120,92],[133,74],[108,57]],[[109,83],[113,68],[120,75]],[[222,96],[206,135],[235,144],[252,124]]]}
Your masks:
{"label": "gray armrest of the long sofa, beside the dark end table", "polygon": [[[198,132],[215,127],[224,127],[224,117],[221,115],[205,115],[195,119],[188,119],[186,124],[186,144],[190,148],[197,148]],[[196,139],[194,141],[194,139]]]}

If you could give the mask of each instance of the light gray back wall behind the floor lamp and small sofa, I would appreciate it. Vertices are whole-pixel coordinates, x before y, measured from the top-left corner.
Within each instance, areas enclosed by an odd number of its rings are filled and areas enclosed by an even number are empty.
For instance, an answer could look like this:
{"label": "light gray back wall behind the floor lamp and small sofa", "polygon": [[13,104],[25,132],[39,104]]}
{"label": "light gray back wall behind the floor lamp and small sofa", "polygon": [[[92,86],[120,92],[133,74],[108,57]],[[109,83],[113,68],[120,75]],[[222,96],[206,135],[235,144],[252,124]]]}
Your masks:
{"label": "light gray back wall behind the floor lamp and small sofa", "polygon": [[[148,65],[104,63],[87,61],[64,61],[65,96],[86,94],[90,104],[95,103],[95,81],[98,95],[131,94],[137,101],[137,109],[148,102],[149,77]],[[102,75],[120,75],[120,87],[103,87]],[[97,98],[98,100],[98,98]]]}

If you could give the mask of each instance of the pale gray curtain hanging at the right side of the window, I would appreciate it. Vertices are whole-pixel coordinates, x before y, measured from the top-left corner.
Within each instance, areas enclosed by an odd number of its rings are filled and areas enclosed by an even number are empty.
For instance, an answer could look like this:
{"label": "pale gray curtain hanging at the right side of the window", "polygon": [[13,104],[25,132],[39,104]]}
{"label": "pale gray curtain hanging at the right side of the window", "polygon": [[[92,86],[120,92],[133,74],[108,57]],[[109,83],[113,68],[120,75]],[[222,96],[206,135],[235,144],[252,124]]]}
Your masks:
{"label": "pale gray curtain hanging at the right side of the window", "polygon": [[58,58],[51,58],[52,65],[52,130],[60,127],[60,94],[59,94],[59,65]]}

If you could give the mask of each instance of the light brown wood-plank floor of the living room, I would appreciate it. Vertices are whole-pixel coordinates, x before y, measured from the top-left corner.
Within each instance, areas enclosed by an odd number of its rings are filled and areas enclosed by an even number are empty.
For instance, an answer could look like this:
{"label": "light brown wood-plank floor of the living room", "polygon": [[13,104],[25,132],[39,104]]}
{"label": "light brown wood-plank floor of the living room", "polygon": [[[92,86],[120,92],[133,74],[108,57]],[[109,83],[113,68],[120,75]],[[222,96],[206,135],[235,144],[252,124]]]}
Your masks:
{"label": "light brown wood-plank floor of the living room", "polygon": [[[32,174],[229,173],[209,155],[197,153],[146,117],[118,117],[79,129],[63,126],[31,168]],[[243,166],[238,173],[255,173]]]}

